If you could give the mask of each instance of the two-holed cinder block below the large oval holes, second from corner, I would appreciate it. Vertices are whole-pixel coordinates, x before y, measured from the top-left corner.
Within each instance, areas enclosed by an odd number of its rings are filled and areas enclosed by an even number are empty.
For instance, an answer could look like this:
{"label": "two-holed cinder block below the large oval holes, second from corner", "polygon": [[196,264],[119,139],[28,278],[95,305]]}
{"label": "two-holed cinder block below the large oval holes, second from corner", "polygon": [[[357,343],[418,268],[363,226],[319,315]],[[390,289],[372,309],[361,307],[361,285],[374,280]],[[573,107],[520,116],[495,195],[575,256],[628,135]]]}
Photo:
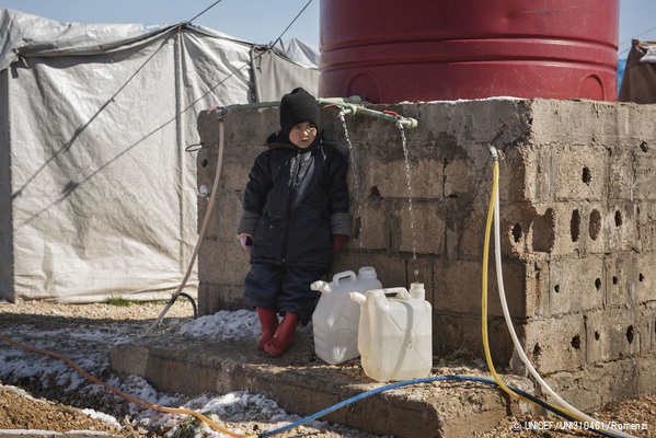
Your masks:
{"label": "two-holed cinder block below the large oval holes, second from corner", "polygon": [[602,309],[606,289],[602,257],[563,257],[549,263],[549,313],[552,316]]}

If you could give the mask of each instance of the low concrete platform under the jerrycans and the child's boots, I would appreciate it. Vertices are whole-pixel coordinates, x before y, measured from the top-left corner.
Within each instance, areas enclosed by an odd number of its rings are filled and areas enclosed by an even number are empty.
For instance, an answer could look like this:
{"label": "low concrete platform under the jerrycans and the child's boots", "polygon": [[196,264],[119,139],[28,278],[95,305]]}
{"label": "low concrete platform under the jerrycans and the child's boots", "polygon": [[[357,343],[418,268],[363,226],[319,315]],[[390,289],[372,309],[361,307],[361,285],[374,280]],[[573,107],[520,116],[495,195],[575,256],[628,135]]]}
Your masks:
{"label": "low concrete platform under the jerrycans and the child's boots", "polygon": [[[143,336],[111,351],[111,366],[122,377],[138,374],[164,392],[197,394],[250,391],[265,394],[288,413],[315,414],[366,391],[380,388],[358,359],[331,366],[314,355],[312,332],[299,328],[295,345],[272,358],[255,339],[214,341],[180,335]],[[431,376],[476,374],[475,369],[434,368]],[[530,392],[528,380],[508,384]],[[494,385],[438,381],[401,387],[358,400],[322,419],[394,437],[463,437],[492,429],[519,412]]]}

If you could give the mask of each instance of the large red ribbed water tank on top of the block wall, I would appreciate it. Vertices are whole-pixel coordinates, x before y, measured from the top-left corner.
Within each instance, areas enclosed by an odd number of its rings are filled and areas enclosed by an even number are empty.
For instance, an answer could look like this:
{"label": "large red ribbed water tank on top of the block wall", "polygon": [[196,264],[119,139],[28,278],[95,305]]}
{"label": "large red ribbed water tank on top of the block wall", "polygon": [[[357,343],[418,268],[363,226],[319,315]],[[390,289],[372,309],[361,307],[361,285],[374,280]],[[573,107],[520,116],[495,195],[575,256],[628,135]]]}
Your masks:
{"label": "large red ribbed water tank on top of the block wall", "polygon": [[321,0],[325,97],[617,100],[619,0]]}

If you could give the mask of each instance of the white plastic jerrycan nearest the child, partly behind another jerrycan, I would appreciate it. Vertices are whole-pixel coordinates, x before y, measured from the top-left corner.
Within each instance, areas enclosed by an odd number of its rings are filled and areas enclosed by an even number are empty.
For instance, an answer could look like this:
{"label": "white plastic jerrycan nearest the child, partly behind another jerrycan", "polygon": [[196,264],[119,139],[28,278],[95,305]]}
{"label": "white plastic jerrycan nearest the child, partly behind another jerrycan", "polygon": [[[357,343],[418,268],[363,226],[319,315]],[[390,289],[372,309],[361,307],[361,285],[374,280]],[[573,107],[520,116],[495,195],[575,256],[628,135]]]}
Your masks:
{"label": "white plastic jerrycan nearest the child, partly behind another jerrycan", "polygon": [[349,292],[380,289],[382,286],[371,266],[335,274],[331,283],[314,281],[312,290],[321,292],[312,314],[314,351],[322,360],[335,365],[359,356],[359,306],[350,300]]}

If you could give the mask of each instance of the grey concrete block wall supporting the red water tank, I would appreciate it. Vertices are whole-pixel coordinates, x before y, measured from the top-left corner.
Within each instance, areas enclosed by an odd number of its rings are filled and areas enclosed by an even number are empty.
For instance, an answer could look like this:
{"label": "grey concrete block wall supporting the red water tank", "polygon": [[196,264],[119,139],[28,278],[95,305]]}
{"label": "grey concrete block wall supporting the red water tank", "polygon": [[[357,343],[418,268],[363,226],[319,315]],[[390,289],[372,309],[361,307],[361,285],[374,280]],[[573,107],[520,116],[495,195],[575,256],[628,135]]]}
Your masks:
{"label": "grey concrete block wall supporting the red water tank", "polygon": [[[482,355],[488,142],[496,138],[504,286],[525,351],[577,407],[652,393],[656,106],[497,99],[371,107],[418,126],[404,132],[404,151],[393,124],[347,117],[347,137],[336,110],[322,110],[326,140],[350,160],[356,229],[333,272],[370,265],[383,287],[424,283],[435,354]],[[199,187],[214,182],[218,126],[217,113],[199,115]],[[276,108],[225,117],[220,186],[198,257],[202,314],[243,306],[249,264],[234,231],[250,166],[277,126]],[[199,221],[208,199],[199,197]],[[494,360],[506,365],[514,347],[493,253],[490,260],[490,342]],[[606,389],[597,391],[596,381]]]}

